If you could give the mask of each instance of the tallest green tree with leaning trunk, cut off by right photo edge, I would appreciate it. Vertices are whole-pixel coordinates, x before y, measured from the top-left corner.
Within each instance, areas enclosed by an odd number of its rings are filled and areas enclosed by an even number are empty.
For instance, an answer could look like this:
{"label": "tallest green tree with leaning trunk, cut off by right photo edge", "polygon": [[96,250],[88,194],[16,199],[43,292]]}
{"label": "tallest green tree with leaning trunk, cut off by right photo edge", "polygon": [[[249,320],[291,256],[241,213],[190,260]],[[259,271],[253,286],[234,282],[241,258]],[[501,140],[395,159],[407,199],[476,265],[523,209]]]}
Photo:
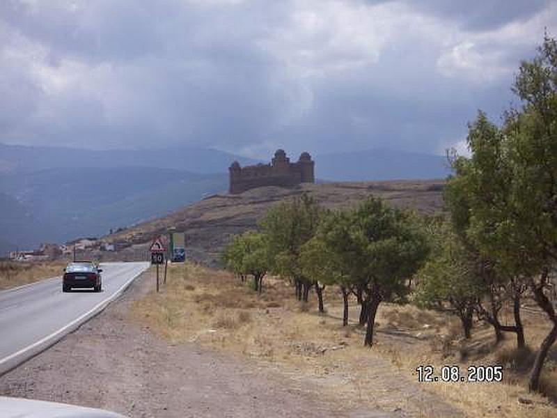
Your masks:
{"label": "tallest green tree with leaning trunk, cut off by right photo edge", "polygon": [[549,273],[557,263],[557,43],[544,37],[538,56],[521,63],[513,91],[521,109],[505,120],[512,167],[505,237],[552,327],[538,350],[529,387],[538,390],[549,348],[557,339],[557,312],[549,300]]}

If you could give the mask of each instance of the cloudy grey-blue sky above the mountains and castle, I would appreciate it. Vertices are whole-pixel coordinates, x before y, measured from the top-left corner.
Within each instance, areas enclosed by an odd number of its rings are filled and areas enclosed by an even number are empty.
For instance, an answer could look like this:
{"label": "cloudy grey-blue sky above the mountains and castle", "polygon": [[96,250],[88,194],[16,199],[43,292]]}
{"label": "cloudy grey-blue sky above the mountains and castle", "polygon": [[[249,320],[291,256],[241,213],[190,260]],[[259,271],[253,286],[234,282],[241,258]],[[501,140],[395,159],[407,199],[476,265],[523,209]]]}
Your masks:
{"label": "cloudy grey-blue sky above the mountains and castle", "polygon": [[443,153],[544,27],[557,1],[1,0],[0,142]]}

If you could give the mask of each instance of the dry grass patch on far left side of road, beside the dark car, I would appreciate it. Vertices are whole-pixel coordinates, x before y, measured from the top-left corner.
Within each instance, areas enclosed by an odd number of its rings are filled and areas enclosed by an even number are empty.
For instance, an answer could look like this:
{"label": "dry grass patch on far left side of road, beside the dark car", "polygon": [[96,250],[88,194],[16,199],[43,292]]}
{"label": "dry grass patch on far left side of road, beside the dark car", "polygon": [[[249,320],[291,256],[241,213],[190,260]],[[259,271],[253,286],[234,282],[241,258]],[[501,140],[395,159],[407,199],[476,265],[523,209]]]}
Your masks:
{"label": "dry grass patch on far left side of road, beside the dark car", "polygon": [[0,290],[33,283],[47,277],[60,276],[65,265],[65,261],[37,263],[0,261]]}

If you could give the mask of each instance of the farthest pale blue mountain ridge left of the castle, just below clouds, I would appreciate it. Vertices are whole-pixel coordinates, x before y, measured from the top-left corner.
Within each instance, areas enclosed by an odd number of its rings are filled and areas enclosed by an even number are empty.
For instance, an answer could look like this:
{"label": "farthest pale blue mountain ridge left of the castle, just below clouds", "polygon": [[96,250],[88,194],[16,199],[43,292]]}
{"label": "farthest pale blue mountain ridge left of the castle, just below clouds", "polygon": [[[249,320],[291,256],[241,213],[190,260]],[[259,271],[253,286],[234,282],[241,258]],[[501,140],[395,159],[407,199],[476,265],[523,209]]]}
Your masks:
{"label": "farthest pale blue mountain ridge left of the castle, just below clouds", "polygon": [[227,173],[234,160],[242,165],[257,162],[219,150],[189,146],[95,151],[0,144],[0,173],[70,167],[158,167],[194,173]]}

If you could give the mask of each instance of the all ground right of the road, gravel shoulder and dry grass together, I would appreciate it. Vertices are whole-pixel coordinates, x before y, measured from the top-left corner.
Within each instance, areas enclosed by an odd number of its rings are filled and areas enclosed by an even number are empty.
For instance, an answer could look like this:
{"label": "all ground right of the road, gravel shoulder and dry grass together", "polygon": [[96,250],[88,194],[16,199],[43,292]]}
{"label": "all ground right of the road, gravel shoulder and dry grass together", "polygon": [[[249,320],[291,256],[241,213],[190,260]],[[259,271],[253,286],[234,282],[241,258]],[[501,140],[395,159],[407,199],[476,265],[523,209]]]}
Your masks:
{"label": "all ground right of the road, gravel shoulder and dry grass together", "polygon": [[[265,279],[258,296],[228,272],[187,263],[172,266],[155,293],[147,272],[102,314],[1,376],[0,394],[129,417],[556,416],[519,380],[418,383],[418,364],[495,361],[471,347],[457,359],[462,347],[446,347],[458,343],[446,340],[458,331],[453,318],[384,304],[370,350],[356,307],[342,327],[338,295],[326,293],[320,315],[281,279]],[[489,328],[474,336],[476,346],[492,339]]]}

